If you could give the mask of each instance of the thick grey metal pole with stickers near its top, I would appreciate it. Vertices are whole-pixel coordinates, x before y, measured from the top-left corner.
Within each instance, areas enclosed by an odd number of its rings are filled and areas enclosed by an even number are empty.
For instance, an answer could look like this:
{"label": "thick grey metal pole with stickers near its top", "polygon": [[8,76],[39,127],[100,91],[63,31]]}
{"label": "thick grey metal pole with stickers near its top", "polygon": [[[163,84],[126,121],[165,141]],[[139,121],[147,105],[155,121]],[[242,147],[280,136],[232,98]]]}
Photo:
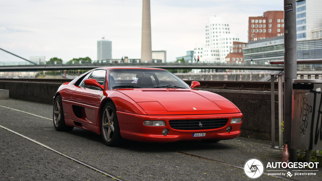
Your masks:
{"label": "thick grey metal pole with stickers near its top", "polygon": [[[297,78],[296,0],[284,0],[284,140],[291,143],[292,88]],[[297,150],[289,148],[289,161],[297,161]]]}

